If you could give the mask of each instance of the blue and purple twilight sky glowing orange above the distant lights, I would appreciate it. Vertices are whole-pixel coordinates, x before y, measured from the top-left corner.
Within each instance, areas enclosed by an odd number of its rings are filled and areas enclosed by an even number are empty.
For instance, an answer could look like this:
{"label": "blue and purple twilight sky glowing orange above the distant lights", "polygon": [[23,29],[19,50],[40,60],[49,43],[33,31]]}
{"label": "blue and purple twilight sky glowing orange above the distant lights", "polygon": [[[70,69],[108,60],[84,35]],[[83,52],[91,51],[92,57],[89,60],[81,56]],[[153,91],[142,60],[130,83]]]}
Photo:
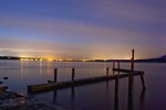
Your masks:
{"label": "blue and purple twilight sky glowing orange above the distant lights", "polygon": [[166,54],[165,0],[0,0],[0,55],[136,58]]}

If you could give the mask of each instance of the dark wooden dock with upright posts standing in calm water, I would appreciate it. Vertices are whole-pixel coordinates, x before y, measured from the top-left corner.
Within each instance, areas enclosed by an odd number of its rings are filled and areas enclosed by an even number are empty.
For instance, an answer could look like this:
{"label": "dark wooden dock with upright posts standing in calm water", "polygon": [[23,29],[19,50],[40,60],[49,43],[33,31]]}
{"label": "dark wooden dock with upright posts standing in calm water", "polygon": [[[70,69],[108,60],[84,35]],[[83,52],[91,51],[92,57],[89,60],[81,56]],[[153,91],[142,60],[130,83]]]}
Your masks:
{"label": "dark wooden dock with upright posts standing in calm water", "polygon": [[[113,74],[108,75],[108,67],[106,68],[106,75],[105,76],[98,76],[98,77],[90,77],[90,78],[83,78],[83,79],[75,79],[75,68],[72,68],[72,79],[70,81],[60,81],[56,82],[58,78],[58,69],[54,69],[54,80],[49,80],[46,84],[39,84],[39,85],[29,85],[28,86],[28,92],[29,94],[38,94],[38,92],[44,92],[48,90],[55,90],[55,89],[62,89],[62,88],[69,88],[74,86],[81,86],[81,85],[89,85],[93,82],[100,82],[100,81],[106,81],[111,79],[115,79],[115,92],[118,92],[118,78],[128,77],[128,90],[133,90],[133,81],[134,76],[141,76],[142,86],[145,88],[145,81],[144,81],[144,72],[142,70],[134,70],[134,51],[132,51],[132,58],[131,58],[131,69],[122,69],[120,67],[120,62],[117,62],[117,68],[115,68],[115,63],[113,63]],[[115,74],[117,72],[117,74]],[[120,74],[121,73],[121,74]],[[118,95],[118,94],[117,94]]]}

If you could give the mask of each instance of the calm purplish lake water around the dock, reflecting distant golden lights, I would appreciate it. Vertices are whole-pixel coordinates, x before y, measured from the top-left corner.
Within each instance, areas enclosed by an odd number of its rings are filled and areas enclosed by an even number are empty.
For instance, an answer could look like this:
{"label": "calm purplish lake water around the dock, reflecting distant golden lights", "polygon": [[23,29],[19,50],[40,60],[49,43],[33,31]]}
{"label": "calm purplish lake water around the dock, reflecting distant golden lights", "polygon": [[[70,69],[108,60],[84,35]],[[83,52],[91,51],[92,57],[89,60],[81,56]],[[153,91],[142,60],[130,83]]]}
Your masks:
{"label": "calm purplish lake water around the dock, reflecting distant golden lights", "polygon": [[[59,69],[58,81],[71,80],[72,67],[76,68],[76,79],[80,79],[104,76],[105,68],[112,68],[112,63],[0,61],[0,80],[9,86],[9,90],[27,94],[28,85],[53,79],[54,68]],[[121,67],[129,68],[129,64],[123,63]],[[139,76],[134,77],[133,96],[128,96],[127,78],[120,80],[116,99],[114,80],[31,96],[69,110],[166,110],[166,64],[137,63],[135,69],[145,72],[147,88],[142,90]],[[3,80],[6,76],[8,80]]]}

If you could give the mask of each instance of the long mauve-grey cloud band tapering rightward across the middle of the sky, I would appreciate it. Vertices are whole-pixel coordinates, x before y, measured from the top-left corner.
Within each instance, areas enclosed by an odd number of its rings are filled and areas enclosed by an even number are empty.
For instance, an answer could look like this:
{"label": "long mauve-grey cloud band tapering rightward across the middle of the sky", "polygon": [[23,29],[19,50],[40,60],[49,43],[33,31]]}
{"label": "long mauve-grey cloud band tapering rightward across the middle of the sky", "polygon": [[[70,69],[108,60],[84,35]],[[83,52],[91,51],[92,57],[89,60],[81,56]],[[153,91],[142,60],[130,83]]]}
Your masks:
{"label": "long mauve-grey cloud band tapering rightward across the middle of the sky", "polygon": [[[146,33],[139,33],[136,31],[131,31],[126,29],[118,28],[105,28],[91,25],[86,23],[77,23],[72,21],[54,20],[54,21],[41,21],[41,20],[11,20],[11,19],[1,19],[1,25],[9,28],[18,28],[35,31],[39,34],[54,35],[54,37],[71,37],[71,38],[117,38],[118,37],[137,37],[137,36],[147,36]],[[136,36],[135,36],[136,35]],[[66,38],[68,40],[68,38]]]}

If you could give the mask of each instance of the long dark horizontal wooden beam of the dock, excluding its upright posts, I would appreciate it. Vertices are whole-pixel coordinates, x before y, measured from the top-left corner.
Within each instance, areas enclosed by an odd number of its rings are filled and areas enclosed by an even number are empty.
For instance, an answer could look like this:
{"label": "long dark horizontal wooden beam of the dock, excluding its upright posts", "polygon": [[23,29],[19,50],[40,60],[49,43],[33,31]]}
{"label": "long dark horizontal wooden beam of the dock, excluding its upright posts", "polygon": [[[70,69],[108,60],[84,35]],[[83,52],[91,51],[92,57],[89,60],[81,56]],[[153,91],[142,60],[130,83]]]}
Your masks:
{"label": "long dark horizontal wooden beam of the dock, excluding its upright posts", "polygon": [[[141,75],[139,72],[132,73],[133,75]],[[131,73],[127,74],[121,74],[118,75],[118,78],[123,77],[128,77]],[[62,88],[68,88],[72,86],[81,86],[81,85],[87,85],[87,84],[93,84],[93,82],[98,82],[98,81],[105,81],[108,79],[115,79],[116,75],[112,76],[98,76],[98,77],[90,77],[90,78],[84,78],[84,79],[75,79],[74,81],[61,81],[61,82],[48,82],[48,84],[39,84],[39,85],[29,85],[28,86],[28,92],[29,94],[35,94],[35,92],[44,92],[48,90],[53,90],[53,89],[62,89]]]}

